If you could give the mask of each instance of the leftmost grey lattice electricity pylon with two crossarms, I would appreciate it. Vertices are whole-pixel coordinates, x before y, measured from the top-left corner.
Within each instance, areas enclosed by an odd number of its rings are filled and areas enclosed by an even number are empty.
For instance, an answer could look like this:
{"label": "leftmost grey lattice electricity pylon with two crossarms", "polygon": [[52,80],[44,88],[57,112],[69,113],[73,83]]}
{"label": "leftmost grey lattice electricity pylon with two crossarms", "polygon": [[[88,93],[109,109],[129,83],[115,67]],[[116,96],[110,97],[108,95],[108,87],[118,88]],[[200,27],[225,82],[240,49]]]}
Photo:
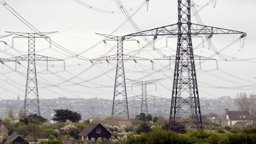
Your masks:
{"label": "leftmost grey lattice electricity pylon with two crossarms", "polygon": [[[15,35],[14,38],[27,38],[28,39],[28,54],[22,56],[15,56],[8,58],[8,60],[15,61],[27,61],[27,80],[25,86],[25,99],[24,99],[24,110],[27,114],[38,114],[40,116],[40,103],[39,103],[39,90],[37,83],[37,72],[36,72],[36,61],[62,61],[62,59],[56,59],[48,56],[36,55],[36,38],[46,39],[50,42],[50,37],[46,36],[48,34],[56,32],[46,32],[46,33],[18,33],[10,32],[9,34]],[[13,44],[13,41],[12,41]]]}

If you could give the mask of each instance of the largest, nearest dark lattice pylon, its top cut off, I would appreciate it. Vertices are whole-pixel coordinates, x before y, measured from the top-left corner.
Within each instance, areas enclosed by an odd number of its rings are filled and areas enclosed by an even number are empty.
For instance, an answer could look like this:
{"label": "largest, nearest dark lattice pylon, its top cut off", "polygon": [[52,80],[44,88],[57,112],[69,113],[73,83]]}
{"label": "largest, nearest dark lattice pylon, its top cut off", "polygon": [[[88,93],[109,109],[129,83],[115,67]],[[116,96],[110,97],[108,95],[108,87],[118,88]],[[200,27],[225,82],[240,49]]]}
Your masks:
{"label": "largest, nearest dark lattice pylon, its top cut off", "polygon": [[153,40],[158,36],[178,37],[169,129],[175,130],[185,125],[197,130],[203,127],[191,37],[212,37],[215,34],[242,34],[241,38],[246,37],[246,33],[241,31],[191,23],[191,1],[178,0],[178,23],[126,35],[153,36]]}

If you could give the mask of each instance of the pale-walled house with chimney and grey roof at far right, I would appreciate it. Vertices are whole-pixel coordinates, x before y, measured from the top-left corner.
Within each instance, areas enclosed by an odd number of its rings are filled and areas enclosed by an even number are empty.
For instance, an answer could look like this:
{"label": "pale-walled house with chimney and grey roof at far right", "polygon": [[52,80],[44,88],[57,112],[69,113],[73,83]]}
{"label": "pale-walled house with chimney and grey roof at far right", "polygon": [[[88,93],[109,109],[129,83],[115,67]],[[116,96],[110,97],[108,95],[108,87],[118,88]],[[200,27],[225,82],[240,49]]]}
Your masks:
{"label": "pale-walled house with chimney and grey roof at far right", "polygon": [[247,111],[229,111],[225,109],[222,126],[248,126],[252,124],[252,116]]}

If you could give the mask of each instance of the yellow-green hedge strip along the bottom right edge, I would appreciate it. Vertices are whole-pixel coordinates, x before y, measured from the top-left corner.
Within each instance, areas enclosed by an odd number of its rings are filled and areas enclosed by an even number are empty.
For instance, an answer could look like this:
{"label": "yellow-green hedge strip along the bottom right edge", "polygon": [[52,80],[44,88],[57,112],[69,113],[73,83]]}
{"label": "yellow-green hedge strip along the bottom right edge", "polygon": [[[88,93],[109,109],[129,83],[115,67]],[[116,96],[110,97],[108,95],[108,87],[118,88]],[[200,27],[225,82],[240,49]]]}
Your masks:
{"label": "yellow-green hedge strip along the bottom right edge", "polygon": [[187,134],[175,133],[163,129],[155,129],[149,133],[141,133],[127,138],[126,143],[256,143],[256,129],[245,130],[244,133],[216,133],[216,132],[188,132]]}

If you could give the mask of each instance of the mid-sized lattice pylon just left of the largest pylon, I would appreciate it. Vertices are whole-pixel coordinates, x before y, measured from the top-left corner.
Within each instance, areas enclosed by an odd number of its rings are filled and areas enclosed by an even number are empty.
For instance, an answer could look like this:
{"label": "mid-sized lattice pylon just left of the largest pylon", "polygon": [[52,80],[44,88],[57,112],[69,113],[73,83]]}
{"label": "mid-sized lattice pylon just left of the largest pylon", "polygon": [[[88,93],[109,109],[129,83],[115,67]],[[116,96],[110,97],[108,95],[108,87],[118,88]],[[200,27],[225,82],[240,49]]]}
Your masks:
{"label": "mid-sized lattice pylon just left of the largest pylon", "polygon": [[123,54],[123,41],[134,41],[133,39],[126,39],[126,37],[110,36],[106,34],[99,34],[101,36],[107,37],[104,41],[117,41],[117,54],[111,56],[104,56],[93,61],[107,61],[116,60],[116,79],[114,84],[114,97],[111,116],[125,116],[129,119],[129,108],[127,102],[127,91],[126,91],[126,78],[124,74],[124,60],[149,60],[142,57],[129,56]]}

